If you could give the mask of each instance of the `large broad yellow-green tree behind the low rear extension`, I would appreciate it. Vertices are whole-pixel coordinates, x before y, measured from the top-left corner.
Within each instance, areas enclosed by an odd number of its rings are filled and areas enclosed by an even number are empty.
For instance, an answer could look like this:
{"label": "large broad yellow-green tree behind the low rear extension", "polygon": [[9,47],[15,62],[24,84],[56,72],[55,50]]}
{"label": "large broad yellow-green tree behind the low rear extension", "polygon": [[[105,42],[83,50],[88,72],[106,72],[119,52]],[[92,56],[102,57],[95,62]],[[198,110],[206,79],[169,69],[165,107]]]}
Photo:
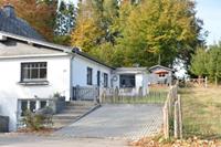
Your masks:
{"label": "large broad yellow-green tree behind the low rear extension", "polygon": [[123,21],[114,27],[120,32],[115,48],[125,53],[123,65],[150,66],[158,63],[159,55],[166,66],[172,65],[176,57],[188,63],[201,42],[201,22],[196,19],[193,2],[148,0],[133,7],[125,3],[119,10],[123,11],[119,14],[124,14],[119,15]]}

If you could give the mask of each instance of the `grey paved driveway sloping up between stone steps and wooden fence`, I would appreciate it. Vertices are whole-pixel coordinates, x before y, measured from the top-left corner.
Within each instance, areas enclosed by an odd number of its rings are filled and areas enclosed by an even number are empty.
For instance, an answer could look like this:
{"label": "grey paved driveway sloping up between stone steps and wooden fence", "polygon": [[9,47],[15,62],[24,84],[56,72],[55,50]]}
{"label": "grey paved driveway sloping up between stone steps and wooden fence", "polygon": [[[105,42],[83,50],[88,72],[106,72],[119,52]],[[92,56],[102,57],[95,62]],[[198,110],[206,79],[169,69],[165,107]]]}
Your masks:
{"label": "grey paved driveway sloping up between stone steps and wooden fence", "polygon": [[161,106],[103,105],[54,135],[81,138],[138,139],[160,132]]}

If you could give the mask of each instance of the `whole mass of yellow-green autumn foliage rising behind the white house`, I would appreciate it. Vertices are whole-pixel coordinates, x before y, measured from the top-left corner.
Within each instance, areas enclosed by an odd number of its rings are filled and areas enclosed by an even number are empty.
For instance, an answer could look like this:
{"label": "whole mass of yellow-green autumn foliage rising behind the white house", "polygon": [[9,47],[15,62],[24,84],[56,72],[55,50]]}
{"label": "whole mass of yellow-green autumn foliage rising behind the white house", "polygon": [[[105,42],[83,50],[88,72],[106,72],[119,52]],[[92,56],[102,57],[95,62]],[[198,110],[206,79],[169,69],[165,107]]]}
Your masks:
{"label": "whole mass of yellow-green autumn foliage rising behind the white house", "polygon": [[202,43],[201,25],[190,0],[85,0],[72,45],[117,66],[151,66],[159,56],[162,65],[189,64]]}

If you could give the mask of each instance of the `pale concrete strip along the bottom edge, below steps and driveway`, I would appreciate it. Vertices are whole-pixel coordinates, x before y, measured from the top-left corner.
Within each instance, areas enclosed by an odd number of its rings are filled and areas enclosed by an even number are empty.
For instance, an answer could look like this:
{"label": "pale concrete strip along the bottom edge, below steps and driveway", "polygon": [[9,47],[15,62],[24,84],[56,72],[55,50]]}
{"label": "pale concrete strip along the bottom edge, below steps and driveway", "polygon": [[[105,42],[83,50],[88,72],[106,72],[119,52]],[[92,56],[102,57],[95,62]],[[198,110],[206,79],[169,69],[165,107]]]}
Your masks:
{"label": "pale concrete strip along the bottom edge, below steps and driveway", "polygon": [[63,138],[34,135],[0,135],[1,147],[127,147],[125,140]]}

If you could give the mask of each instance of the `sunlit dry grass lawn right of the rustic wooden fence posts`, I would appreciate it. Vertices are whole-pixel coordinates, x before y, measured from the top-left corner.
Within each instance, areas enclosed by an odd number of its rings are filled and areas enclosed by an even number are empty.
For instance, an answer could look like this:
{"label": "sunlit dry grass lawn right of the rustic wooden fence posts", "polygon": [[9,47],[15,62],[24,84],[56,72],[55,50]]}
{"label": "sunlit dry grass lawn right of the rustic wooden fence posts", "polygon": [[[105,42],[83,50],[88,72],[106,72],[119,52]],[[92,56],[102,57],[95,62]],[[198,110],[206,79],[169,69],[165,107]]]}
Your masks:
{"label": "sunlit dry grass lawn right of the rustic wooden fence posts", "polygon": [[179,93],[185,137],[221,138],[221,88],[191,87]]}

